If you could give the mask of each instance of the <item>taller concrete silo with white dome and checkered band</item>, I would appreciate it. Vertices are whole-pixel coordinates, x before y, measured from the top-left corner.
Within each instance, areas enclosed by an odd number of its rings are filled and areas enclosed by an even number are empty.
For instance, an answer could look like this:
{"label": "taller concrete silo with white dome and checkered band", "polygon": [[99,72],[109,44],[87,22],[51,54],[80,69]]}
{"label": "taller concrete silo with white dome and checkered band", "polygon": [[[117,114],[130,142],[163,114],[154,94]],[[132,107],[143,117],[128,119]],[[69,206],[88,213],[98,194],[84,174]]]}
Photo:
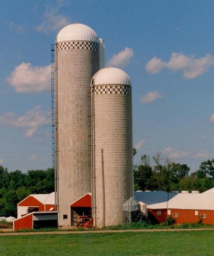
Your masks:
{"label": "taller concrete silo with white dome and checkered band", "polygon": [[104,48],[93,29],[76,23],[58,33],[55,52],[58,224],[71,225],[70,204],[91,192],[90,84]]}

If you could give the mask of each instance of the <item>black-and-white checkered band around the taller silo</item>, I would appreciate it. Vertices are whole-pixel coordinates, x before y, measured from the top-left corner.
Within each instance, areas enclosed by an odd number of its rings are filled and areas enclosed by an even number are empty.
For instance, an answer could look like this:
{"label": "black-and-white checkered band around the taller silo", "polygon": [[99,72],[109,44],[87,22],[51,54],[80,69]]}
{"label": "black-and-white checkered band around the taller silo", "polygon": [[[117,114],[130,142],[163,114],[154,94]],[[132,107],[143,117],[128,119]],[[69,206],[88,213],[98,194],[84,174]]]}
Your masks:
{"label": "black-and-white checkered band around the taller silo", "polygon": [[60,42],[57,43],[57,50],[86,49],[99,52],[99,44],[96,42]]}

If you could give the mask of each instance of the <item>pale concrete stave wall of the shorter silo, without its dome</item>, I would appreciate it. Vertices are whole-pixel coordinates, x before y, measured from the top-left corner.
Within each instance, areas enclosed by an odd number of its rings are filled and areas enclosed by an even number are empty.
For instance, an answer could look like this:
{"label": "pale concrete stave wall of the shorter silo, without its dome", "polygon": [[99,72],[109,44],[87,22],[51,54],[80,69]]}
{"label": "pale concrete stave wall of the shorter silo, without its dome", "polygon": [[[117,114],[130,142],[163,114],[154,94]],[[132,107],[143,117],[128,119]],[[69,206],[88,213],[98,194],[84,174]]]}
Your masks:
{"label": "pale concrete stave wall of the shorter silo, without its dome", "polygon": [[[96,216],[94,225],[103,226],[103,185],[101,149],[105,176],[105,226],[123,222],[123,203],[133,196],[132,95],[94,91],[94,164],[96,175]],[[123,85],[114,85],[122,87]],[[124,86],[123,86],[124,87]],[[102,89],[100,89],[102,90]]]}

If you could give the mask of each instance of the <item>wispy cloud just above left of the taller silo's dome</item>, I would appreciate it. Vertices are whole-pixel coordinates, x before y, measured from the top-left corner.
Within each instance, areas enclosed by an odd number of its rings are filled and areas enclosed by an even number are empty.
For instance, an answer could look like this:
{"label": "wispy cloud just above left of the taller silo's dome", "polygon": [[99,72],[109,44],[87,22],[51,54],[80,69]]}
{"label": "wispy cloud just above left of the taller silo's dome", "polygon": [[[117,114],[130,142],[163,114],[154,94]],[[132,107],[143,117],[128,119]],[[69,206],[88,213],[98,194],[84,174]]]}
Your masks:
{"label": "wispy cloud just above left of the taller silo's dome", "polygon": [[59,14],[59,7],[48,8],[43,15],[43,22],[35,27],[35,30],[41,33],[48,33],[49,31],[59,31],[70,23],[69,18],[65,15]]}

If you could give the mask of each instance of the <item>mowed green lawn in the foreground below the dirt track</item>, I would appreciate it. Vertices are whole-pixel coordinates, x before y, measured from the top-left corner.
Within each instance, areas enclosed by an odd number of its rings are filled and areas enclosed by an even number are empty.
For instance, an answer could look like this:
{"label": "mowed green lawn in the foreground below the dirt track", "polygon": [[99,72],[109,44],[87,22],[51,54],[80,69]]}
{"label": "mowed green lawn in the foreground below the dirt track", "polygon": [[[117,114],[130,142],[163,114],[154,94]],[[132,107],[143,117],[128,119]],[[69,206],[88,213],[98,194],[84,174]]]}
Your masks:
{"label": "mowed green lawn in the foreground below the dirt track", "polygon": [[214,230],[0,236],[4,255],[214,255]]}

